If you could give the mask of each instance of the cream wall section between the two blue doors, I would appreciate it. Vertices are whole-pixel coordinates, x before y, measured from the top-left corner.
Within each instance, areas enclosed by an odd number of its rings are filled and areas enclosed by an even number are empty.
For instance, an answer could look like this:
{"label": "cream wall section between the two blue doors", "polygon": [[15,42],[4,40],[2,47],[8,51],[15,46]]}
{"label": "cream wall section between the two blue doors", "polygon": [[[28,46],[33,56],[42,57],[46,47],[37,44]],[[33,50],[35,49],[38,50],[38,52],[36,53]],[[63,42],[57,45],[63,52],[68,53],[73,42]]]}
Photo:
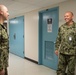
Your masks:
{"label": "cream wall section between the two blue doors", "polygon": [[25,14],[25,56],[38,61],[38,12]]}

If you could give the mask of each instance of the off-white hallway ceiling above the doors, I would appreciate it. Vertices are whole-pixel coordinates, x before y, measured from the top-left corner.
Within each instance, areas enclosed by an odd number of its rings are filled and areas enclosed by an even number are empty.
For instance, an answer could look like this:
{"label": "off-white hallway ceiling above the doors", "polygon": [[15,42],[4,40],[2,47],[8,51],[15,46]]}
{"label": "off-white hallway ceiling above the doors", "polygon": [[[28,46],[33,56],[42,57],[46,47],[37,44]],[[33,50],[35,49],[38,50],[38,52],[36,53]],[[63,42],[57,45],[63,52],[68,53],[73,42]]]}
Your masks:
{"label": "off-white hallway ceiling above the doors", "polygon": [[0,0],[0,4],[8,8],[11,17],[64,1],[66,0]]}

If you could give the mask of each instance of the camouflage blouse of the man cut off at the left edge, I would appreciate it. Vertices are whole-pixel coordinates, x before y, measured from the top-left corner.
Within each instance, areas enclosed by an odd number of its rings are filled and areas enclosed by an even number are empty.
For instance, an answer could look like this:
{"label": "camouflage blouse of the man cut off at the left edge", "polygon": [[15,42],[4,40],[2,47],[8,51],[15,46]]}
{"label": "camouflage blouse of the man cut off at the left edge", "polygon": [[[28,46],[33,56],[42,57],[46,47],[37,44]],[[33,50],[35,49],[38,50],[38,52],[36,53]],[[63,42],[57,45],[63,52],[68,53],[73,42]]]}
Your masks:
{"label": "camouflage blouse of the man cut off at the left edge", "polygon": [[6,28],[0,24],[0,70],[8,66],[9,43]]}

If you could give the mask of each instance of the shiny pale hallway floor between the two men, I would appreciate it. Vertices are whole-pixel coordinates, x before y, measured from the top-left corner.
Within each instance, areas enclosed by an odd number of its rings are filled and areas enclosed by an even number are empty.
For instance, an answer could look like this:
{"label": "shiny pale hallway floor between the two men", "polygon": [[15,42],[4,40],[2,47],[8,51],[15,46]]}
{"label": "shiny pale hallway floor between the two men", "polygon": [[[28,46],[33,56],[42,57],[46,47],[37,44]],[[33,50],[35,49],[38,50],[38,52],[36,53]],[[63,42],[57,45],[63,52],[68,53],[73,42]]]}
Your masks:
{"label": "shiny pale hallway floor between the two men", "polygon": [[14,54],[9,55],[9,75],[56,75],[56,71],[48,67],[35,64],[31,61],[18,57]]}

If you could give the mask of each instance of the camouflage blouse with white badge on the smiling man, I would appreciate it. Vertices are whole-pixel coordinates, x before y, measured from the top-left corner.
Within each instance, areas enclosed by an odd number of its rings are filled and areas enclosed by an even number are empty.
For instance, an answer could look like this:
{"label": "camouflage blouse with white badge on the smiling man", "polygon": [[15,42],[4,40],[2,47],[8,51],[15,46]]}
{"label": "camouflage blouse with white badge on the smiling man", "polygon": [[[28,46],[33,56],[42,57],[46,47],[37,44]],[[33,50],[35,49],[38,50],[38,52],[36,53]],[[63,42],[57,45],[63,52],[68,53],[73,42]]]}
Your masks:
{"label": "camouflage blouse with white badge on the smiling man", "polygon": [[76,55],[76,23],[68,26],[66,23],[59,27],[55,44],[56,50],[67,55]]}

